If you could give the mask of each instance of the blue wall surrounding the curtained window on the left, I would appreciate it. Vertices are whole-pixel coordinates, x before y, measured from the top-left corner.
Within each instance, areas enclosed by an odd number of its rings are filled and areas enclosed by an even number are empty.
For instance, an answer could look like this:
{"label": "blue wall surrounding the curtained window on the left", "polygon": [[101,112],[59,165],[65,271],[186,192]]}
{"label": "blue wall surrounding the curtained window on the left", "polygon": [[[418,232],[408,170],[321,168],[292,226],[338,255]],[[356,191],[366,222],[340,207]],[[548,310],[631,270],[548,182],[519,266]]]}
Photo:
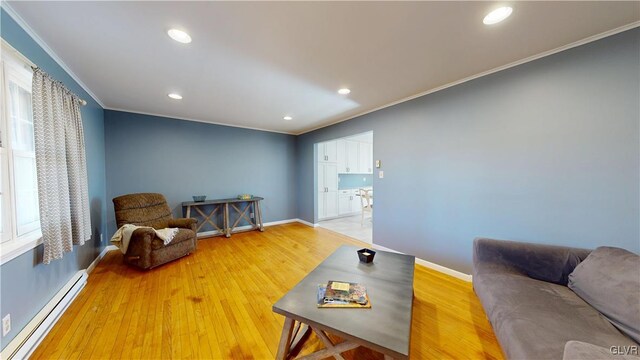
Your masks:
{"label": "blue wall surrounding the curtained window on the left", "polygon": [[105,244],[100,243],[100,234],[106,230],[106,186],[102,107],[42,50],[4,9],[0,11],[0,34],[16,50],[87,101],[87,106],[82,108],[82,122],[93,228],[92,240],[83,246],[74,247],[74,251],[65,254],[62,260],[43,265],[40,245],[0,267],[0,317],[10,313],[12,322],[11,332],[1,340],[4,349],[73,274],[85,269],[104,248]]}

